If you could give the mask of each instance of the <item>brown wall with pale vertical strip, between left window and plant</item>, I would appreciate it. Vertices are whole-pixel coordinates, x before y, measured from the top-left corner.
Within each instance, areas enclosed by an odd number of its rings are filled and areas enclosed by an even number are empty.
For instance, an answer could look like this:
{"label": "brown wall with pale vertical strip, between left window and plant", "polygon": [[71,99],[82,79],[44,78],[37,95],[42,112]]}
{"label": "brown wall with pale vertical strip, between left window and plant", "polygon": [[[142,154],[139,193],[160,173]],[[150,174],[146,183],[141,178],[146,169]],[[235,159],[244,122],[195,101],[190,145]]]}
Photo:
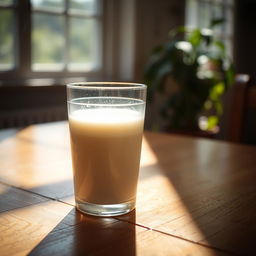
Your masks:
{"label": "brown wall with pale vertical strip, between left window and plant", "polygon": [[[111,0],[112,26],[107,39],[112,60],[107,78],[143,81],[143,70],[152,49],[168,39],[170,29],[184,25],[185,0]],[[109,66],[109,63],[107,65]]]}

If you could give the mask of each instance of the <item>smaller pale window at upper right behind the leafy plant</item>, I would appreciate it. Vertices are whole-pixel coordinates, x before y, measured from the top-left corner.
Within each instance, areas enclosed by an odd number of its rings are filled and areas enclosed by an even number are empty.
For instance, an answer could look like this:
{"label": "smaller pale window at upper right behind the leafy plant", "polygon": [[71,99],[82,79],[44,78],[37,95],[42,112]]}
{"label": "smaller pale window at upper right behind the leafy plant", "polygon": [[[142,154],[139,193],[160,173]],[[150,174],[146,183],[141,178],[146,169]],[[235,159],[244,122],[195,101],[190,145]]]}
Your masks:
{"label": "smaller pale window at upper right behind the leafy plant", "polygon": [[213,19],[224,19],[214,33],[224,41],[229,56],[233,56],[234,0],[187,0],[186,25],[209,28]]}

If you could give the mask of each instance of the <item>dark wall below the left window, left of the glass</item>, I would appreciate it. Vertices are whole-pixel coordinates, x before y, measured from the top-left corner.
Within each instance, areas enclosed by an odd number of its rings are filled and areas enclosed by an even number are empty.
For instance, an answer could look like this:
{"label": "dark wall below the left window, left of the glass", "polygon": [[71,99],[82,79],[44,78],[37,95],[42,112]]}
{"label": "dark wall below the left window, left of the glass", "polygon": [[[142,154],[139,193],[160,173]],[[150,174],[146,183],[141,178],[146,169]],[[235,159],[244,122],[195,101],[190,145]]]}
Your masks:
{"label": "dark wall below the left window, left of the glass", "polygon": [[67,119],[66,87],[0,87],[0,129]]}

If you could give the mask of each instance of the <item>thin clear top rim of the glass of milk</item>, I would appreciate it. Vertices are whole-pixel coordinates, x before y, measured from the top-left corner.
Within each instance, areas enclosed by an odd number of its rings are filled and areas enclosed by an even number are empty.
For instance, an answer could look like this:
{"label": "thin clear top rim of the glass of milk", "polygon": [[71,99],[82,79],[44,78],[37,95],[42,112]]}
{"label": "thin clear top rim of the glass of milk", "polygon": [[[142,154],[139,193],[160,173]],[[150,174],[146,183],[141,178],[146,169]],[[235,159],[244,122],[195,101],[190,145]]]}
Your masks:
{"label": "thin clear top rim of the glass of milk", "polygon": [[147,85],[142,83],[131,82],[73,82],[68,83],[67,88],[71,89],[103,89],[103,90],[142,90],[146,89]]}

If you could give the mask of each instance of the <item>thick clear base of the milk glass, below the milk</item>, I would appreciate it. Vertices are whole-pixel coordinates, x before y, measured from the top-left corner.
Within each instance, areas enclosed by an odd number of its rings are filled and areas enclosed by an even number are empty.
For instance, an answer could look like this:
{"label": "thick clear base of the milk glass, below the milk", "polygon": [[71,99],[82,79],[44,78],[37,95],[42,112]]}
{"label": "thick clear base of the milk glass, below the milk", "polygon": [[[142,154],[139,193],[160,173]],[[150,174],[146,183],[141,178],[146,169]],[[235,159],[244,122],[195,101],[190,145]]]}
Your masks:
{"label": "thick clear base of the milk glass, below the milk", "polygon": [[92,204],[76,200],[76,208],[86,214],[110,217],[126,214],[135,208],[135,201],[128,201],[120,204]]}

